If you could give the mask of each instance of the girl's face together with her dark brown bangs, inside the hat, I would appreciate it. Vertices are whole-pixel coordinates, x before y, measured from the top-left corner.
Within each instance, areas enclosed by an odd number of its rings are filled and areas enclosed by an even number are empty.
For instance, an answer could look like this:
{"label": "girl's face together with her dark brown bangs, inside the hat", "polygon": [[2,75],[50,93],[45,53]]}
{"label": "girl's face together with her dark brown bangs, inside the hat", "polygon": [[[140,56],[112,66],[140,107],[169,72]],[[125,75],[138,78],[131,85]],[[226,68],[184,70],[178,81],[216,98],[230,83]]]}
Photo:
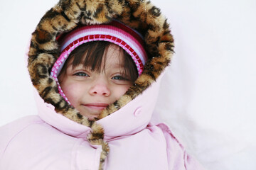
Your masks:
{"label": "girl's face together with her dark brown bangs, inside the hat", "polygon": [[137,67],[127,52],[112,42],[95,41],[71,52],[56,81],[60,82],[65,99],[82,115],[94,120],[137,77]]}

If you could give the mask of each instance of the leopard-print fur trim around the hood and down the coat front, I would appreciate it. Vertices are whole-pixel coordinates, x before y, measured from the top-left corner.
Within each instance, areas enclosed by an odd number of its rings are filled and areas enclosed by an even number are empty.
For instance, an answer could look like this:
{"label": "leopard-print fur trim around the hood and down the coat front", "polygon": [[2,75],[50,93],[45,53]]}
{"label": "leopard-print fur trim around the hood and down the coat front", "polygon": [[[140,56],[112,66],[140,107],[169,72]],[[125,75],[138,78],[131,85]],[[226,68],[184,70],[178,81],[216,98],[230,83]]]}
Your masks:
{"label": "leopard-print fur trim around the hood and down the coat front", "polygon": [[159,8],[143,0],[60,0],[41,18],[32,34],[28,52],[28,71],[38,94],[44,102],[54,106],[56,113],[91,128],[87,139],[92,145],[102,145],[101,163],[109,151],[102,125],[82,116],[60,96],[58,85],[50,77],[50,70],[60,55],[56,40],[58,35],[72,30],[78,24],[109,23],[112,19],[125,23],[144,36],[149,60],[142,75],[124,96],[102,111],[99,119],[105,118],[148,89],[171,61],[174,40]]}

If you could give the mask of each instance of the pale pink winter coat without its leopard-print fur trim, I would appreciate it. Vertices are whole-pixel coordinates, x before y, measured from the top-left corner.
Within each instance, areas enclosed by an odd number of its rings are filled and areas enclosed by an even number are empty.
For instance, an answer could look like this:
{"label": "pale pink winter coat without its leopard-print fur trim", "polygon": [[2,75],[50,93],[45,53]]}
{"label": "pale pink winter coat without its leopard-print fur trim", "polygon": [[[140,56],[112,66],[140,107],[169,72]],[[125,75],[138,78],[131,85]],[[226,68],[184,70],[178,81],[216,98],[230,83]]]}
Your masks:
{"label": "pale pink winter coat without its leopard-print fur trim", "polygon": [[[105,169],[203,169],[167,125],[150,123],[156,99],[146,99],[156,98],[158,89],[159,83],[152,84],[124,108],[97,121],[110,146]],[[90,128],[55,113],[39,96],[37,103],[38,116],[0,128],[0,169],[98,169],[102,149],[87,142]]]}

